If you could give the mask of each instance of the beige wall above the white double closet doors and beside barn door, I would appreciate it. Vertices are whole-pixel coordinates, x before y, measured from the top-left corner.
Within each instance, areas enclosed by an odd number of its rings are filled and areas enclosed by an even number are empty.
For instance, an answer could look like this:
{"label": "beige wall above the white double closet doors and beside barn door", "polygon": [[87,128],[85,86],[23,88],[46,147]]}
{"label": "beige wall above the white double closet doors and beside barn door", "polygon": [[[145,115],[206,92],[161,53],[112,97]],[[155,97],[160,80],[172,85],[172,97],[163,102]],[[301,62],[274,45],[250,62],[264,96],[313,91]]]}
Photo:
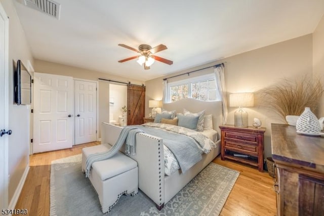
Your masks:
{"label": "beige wall above the white double closet doors and beside barn door", "polygon": [[[87,70],[83,68],[68,66],[64,64],[53,63],[35,59],[35,72],[70,76],[73,78],[98,80],[98,78],[114,80],[119,82],[131,82],[132,84],[142,85],[141,81],[130,80],[125,77],[118,77],[109,74],[100,73],[97,71]],[[109,82],[99,81],[99,137],[101,137],[101,122],[109,122]]]}

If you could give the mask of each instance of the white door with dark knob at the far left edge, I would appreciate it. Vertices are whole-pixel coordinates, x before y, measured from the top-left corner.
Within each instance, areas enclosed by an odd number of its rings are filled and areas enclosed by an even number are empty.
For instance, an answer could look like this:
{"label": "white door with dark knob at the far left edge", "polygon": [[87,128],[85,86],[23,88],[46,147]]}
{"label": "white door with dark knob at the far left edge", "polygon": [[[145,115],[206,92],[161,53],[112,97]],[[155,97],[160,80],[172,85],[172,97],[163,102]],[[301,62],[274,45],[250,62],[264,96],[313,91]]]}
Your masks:
{"label": "white door with dark knob at the far left edge", "polygon": [[[8,131],[8,25],[0,4],[0,130]],[[8,208],[8,134],[0,136],[0,209]]]}

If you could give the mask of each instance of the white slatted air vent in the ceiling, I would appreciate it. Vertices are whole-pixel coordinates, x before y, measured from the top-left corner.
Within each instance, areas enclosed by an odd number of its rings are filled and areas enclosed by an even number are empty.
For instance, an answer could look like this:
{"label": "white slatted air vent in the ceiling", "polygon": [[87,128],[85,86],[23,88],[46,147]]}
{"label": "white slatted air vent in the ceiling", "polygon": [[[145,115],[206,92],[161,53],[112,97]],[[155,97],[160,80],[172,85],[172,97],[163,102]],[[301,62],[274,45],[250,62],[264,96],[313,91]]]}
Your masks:
{"label": "white slatted air vent in the ceiling", "polygon": [[25,5],[60,19],[60,4],[52,0],[25,0]]}

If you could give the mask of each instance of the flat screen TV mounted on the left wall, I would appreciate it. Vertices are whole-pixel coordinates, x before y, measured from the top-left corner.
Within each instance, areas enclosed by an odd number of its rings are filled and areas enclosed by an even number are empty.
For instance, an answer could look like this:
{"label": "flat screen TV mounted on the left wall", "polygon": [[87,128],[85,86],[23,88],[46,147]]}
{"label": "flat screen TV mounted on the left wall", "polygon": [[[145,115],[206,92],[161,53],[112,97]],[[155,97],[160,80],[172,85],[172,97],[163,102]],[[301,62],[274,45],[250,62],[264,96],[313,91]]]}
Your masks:
{"label": "flat screen TV mounted on the left wall", "polygon": [[31,103],[31,75],[25,65],[18,60],[14,73],[15,103],[27,105]]}

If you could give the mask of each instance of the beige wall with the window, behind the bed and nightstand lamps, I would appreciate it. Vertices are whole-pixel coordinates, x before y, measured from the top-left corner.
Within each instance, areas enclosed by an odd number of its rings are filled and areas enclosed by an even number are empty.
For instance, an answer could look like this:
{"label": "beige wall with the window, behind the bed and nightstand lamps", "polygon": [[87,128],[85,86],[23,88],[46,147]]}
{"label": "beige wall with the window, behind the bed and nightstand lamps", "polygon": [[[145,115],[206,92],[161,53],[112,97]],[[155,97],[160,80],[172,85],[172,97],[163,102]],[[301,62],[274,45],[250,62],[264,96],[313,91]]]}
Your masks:
{"label": "beige wall with the window, behind the bed and nightstand lamps", "polygon": [[[303,74],[312,74],[312,35],[308,34],[300,38],[281,42],[271,46],[263,47],[246,53],[224,58],[209,64],[200,65],[199,68],[225,62],[225,85],[227,94],[237,92],[257,92],[276,83],[281,78],[295,78]],[[187,71],[180,71],[177,74]],[[209,68],[192,75],[213,73]],[[173,76],[173,75],[170,75]],[[170,77],[166,76],[166,77]],[[182,76],[185,79],[187,75]],[[190,75],[190,77],[192,77]],[[162,97],[162,80],[165,77],[146,81],[146,99]],[[177,79],[181,79],[178,77]],[[170,79],[169,82],[175,81]],[[156,88],[156,86],[160,86]],[[258,94],[256,95],[258,101]],[[259,118],[262,126],[266,127],[265,133],[265,156],[271,156],[271,123],[284,123],[279,117],[256,101],[254,107],[246,109],[249,114],[249,125],[252,125],[253,118]],[[187,109],[190,110],[190,107]],[[229,107],[228,124],[234,124],[234,112],[236,108]],[[148,115],[148,108],[146,114]]]}

